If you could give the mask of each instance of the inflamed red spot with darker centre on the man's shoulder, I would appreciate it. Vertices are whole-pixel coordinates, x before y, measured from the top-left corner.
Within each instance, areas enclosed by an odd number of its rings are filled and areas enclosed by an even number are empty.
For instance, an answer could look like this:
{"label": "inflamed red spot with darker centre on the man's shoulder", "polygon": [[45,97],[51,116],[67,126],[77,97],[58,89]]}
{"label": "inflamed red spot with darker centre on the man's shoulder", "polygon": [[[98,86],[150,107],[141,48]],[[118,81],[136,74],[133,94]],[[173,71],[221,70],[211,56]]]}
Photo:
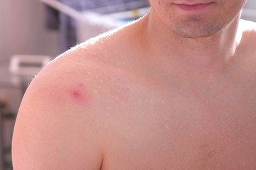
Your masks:
{"label": "inflamed red spot with darker centre on the man's shoulder", "polygon": [[85,88],[85,85],[80,83],[78,85],[70,87],[68,90],[71,101],[76,106],[90,108],[91,105],[91,96],[89,91]]}

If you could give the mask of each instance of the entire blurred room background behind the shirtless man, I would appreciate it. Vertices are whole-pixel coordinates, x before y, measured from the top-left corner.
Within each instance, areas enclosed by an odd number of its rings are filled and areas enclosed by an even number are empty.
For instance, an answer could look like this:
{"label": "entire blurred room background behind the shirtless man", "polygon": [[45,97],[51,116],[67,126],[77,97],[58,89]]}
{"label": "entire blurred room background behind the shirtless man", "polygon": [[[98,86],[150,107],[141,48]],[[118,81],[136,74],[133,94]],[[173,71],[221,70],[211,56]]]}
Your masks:
{"label": "entire blurred room background behind the shirtless man", "polygon": [[[148,0],[0,1],[0,170],[12,169],[14,122],[34,75],[70,47],[148,11]],[[242,18],[256,21],[255,0]]]}

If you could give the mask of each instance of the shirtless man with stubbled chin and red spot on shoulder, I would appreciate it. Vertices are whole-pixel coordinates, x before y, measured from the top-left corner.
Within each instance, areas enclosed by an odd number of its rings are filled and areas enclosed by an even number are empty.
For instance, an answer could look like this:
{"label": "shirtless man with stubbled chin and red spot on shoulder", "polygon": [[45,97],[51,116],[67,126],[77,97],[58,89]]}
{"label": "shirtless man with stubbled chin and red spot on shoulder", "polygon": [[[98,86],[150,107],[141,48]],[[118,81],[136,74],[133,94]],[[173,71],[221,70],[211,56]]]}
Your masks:
{"label": "shirtless man with stubbled chin and red spot on shoulder", "polygon": [[138,21],[33,80],[14,170],[255,170],[256,25],[246,0],[150,0]]}

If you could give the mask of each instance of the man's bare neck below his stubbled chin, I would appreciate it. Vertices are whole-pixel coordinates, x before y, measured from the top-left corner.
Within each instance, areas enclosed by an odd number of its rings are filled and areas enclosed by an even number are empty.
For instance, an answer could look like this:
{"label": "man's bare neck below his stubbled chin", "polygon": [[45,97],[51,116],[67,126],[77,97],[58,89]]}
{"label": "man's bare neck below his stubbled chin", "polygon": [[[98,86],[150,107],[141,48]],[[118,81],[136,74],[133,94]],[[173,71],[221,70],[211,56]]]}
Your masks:
{"label": "man's bare neck below his stubbled chin", "polygon": [[184,74],[219,73],[234,57],[240,41],[240,16],[219,33],[206,38],[181,38],[161,23],[154,14],[149,13],[147,17],[146,46],[150,50],[148,52],[151,60],[158,64],[155,67],[159,67],[163,72],[181,69]]}

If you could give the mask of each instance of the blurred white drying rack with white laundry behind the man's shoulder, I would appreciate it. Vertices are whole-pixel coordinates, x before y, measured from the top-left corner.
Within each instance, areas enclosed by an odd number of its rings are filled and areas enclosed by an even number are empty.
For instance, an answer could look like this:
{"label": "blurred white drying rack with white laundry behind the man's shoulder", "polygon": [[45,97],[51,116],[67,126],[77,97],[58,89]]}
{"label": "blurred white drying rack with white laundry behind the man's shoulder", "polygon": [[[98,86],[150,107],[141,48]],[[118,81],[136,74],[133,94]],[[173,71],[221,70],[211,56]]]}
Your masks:
{"label": "blurred white drying rack with white laundry behind the man's shoulder", "polygon": [[115,8],[123,8],[124,4],[117,4],[113,6],[106,6],[101,8],[94,8],[88,11],[76,11],[74,8],[55,0],[40,0],[43,3],[61,11],[68,16],[75,18],[78,21],[77,26],[77,40],[78,43],[84,42],[89,38],[105,33],[108,30],[117,28],[124,25],[132,20],[144,16],[148,11],[149,7],[136,8],[139,6],[141,1],[131,1],[125,3],[126,6],[134,8],[131,11],[124,11],[118,13],[102,14],[107,11],[114,11]]}

